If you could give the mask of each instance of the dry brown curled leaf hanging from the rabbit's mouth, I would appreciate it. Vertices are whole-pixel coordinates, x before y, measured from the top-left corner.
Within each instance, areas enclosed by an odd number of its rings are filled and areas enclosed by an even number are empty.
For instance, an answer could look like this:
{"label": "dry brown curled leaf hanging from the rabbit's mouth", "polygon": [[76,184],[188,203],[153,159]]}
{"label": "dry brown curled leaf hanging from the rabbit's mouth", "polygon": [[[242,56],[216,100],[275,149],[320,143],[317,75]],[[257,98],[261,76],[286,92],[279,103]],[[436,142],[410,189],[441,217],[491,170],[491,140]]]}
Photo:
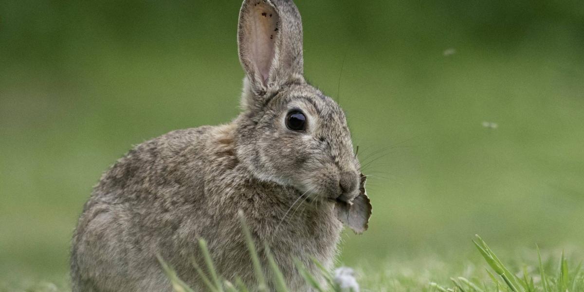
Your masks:
{"label": "dry brown curled leaf hanging from the rabbit's mouth", "polygon": [[361,173],[359,195],[351,201],[337,201],[335,203],[336,218],[351,228],[356,234],[361,234],[367,230],[371,211],[373,210],[371,201],[367,197],[365,190],[366,180],[367,176]]}

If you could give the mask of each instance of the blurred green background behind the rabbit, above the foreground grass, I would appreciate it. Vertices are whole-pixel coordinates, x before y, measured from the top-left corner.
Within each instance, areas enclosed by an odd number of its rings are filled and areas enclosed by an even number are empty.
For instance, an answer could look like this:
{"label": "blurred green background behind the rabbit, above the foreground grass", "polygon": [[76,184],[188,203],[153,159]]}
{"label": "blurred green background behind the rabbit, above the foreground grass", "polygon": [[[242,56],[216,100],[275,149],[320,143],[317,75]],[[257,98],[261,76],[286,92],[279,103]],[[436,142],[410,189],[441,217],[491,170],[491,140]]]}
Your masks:
{"label": "blurred green background behind the rabbit, above the foreground grass", "polygon": [[[583,247],[584,2],[296,2],[307,78],[373,154],[370,230],[343,235],[343,262],[467,251],[474,234]],[[1,277],[65,277],[100,173],[237,116],[240,5],[0,2]]]}

